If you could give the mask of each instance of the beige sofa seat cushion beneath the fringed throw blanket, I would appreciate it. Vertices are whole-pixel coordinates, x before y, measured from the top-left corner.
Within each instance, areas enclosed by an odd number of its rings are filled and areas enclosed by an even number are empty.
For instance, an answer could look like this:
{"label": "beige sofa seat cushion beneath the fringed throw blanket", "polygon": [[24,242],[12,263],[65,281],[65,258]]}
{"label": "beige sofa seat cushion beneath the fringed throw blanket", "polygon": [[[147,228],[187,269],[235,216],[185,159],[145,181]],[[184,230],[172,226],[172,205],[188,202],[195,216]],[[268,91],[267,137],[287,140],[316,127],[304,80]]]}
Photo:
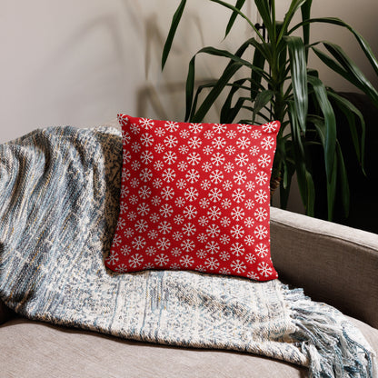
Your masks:
{"label": "beige sofa seat cushion beneath the fringed throw blanket", "polygon": [[[349,320],[378,353],[378,330]],[[303,378],[307,372],[257,355],[134,343],[23,318],[0,326],[0,350],[2,373],[27,378]]]}

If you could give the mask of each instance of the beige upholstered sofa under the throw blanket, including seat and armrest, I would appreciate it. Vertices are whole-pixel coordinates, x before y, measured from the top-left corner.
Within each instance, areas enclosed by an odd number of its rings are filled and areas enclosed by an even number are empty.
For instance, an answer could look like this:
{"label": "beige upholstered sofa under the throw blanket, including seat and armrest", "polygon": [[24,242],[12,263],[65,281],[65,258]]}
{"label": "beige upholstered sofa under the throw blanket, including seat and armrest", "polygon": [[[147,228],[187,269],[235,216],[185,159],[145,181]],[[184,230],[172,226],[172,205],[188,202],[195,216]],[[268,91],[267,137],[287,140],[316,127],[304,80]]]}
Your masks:
{"label": "beige upholstered sofa under the throw blanket, including seat and armrest", "polygon": [[[378,235],[272,208],[282,281],[351,317],[378,353]],[[305,377],[264,357],[128,342],[16,317],[0,303],[0,376]]]}

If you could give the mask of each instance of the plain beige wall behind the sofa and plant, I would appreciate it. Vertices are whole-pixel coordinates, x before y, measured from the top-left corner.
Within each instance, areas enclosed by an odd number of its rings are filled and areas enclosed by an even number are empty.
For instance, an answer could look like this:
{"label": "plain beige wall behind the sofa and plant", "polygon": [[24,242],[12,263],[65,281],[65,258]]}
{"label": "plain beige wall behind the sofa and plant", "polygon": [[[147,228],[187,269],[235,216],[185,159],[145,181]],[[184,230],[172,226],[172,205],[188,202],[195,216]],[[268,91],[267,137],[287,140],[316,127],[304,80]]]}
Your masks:
{"label": "plain beige wall behind the sofa and plant", "polygon": [[[177,3],[2,0],[0,143],[36,127],[102,124],[117,112],[182,119],[189,58],[202,45],[222,40],[227,14],[219,5],[189,1],[173,55],[161,73],[161,50]],[[278,14],[283,14],[289,2],[276,3]],[[246,12],[255,18],[253,6]],[[339,15],[360,30],[378,54],[376,0],[314,0],[313,15]],[[223,46],[232,48],[246,36],[247,27],[241,23]],[[314,36],[336,39],[364,65],[344,33],[321,28]],[[218,61],[199,61],[202,77],[219,72]],[[337,89],[348,88],[333,75],[322,75]],[[377,77],[368,75],[378,85]]]}

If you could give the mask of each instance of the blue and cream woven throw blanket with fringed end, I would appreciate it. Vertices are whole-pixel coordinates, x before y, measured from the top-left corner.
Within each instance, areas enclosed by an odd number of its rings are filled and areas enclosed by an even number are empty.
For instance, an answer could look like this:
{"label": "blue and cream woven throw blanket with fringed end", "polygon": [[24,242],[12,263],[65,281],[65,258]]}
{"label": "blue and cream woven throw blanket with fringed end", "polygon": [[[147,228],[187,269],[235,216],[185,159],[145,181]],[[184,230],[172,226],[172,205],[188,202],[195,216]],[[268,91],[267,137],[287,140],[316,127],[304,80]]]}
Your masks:
{"label": "blue and cream woven throw blanket with fringed end", "polygon": [[127,339],[222,348],[373,377],[363,336],[280,281],[104,267],[118,215],[121,134],[36,130],[0,146],[0,297],[28,318]]}

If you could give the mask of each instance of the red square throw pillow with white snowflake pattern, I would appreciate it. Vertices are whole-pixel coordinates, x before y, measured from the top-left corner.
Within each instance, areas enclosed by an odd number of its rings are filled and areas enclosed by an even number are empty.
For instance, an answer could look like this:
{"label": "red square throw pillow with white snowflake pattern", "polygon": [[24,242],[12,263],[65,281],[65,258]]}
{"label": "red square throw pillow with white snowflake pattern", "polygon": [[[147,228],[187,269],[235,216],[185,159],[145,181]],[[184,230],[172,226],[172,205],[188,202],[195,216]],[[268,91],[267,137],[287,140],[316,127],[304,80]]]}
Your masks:
{"label": "red square throw pillow with white snowflake pattern", "polygon": [[118,120],[124,162],[108,268],[277,278],[269,203],[278,122]]}

